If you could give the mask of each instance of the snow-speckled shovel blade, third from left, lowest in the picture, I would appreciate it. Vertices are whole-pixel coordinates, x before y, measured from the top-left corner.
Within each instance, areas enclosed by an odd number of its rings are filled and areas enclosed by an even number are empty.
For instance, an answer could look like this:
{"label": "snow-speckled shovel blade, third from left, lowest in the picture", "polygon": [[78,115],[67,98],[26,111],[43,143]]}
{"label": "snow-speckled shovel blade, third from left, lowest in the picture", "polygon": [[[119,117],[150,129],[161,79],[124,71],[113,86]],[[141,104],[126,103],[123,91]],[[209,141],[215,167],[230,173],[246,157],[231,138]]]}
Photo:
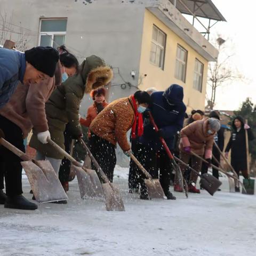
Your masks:
{"label": "snow-speckled shovel blade, third from left, lowest in the picture", "polygon": [[105,195],[105,204],[107,211],[125,211],[124,202],[120,195],[118,186],[111,183],[102,184],[103,193]]}

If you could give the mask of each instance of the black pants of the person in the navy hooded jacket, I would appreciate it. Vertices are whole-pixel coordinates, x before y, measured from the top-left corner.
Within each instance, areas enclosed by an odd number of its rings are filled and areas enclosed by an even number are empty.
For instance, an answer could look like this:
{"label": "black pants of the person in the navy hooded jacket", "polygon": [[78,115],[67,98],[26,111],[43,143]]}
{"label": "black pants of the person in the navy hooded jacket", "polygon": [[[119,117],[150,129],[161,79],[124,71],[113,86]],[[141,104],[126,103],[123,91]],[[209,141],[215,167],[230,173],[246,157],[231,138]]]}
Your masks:
{"label": "black pants of the person in the navy hooded jacket", "polygon": [[[150,147],[140,145],[138,159],[153,179],[159,178],[164,194],[167,195],[170,187],[172,165],[166,152],[164,150],[155,151]],[[139,180],[142,193],[146,189],[144,179],[145,176],[140,172]]]}

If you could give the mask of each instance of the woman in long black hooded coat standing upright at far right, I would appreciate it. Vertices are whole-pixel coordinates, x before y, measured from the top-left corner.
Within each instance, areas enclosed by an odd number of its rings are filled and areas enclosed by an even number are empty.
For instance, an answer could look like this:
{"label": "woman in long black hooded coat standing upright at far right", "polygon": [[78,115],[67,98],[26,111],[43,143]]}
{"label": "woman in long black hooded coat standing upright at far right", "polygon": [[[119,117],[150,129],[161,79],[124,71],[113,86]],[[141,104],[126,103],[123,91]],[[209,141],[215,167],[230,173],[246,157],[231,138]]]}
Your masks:
{"label": "woman in long black hooded coat standing upright at far right", "polygon": [[[231,137],[225,149],[225,156],[228,158],[228,152],[231,149],[231,165],[234,167],[238,177],[239,173],[242,172],[243,177],[248,179],[245,130],[247,130],[249,140],[253,140],[254,135],[250,126],[244,123],[241,116],[235,117],[232,127],[233,132],[231,133]],[[240,191],[239,187],[236,187],[235,189],[236,192]]]}

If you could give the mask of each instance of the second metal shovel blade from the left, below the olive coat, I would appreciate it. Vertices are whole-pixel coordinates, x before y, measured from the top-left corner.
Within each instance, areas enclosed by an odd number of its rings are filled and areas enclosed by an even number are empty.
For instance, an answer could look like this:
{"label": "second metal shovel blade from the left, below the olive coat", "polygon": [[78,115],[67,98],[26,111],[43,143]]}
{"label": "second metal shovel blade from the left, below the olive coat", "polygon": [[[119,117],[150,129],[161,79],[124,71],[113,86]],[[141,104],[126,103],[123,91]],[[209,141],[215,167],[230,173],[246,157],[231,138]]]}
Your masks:
{"label": "second metal shovel blade from the left, below the olive coat", "polygon": [[93,170],[84,171],[71,164],[70,169],[76,173],[81,198],[103,198],[103,191],[98,175]]}

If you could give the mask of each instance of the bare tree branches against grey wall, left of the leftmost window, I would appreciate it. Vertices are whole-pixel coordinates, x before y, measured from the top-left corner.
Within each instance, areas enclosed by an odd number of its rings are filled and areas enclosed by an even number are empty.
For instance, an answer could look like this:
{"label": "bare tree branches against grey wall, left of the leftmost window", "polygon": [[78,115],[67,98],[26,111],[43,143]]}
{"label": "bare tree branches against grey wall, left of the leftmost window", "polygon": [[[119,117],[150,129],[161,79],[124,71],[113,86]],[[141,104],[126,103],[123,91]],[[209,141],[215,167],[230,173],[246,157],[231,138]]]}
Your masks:
{"label": "bare tree branches against grey wall, left of the leftmost window", "polygon": [[15,48],[19,51],[27,50],[27,43],[30,40],[29,30],[13,24],[13,14],[8,16],[6,12],[0,12],[0,44],[6,40],[15,42]]}

